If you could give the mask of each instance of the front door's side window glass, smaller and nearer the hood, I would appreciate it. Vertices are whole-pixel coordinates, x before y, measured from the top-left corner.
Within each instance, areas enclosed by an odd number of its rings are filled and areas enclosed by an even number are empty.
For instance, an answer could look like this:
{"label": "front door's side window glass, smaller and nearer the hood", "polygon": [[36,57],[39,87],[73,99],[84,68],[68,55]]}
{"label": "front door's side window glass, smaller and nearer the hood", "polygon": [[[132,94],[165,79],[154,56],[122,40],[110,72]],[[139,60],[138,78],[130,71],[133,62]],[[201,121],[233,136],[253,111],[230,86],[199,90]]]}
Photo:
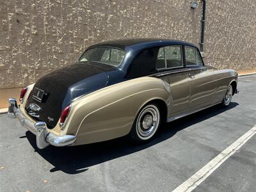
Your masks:
{"label": "front door's side window glass, smaller and nearer the hood", "polygon": [[185,47],[186,65],[203,65],[199,52],[194,47]]}

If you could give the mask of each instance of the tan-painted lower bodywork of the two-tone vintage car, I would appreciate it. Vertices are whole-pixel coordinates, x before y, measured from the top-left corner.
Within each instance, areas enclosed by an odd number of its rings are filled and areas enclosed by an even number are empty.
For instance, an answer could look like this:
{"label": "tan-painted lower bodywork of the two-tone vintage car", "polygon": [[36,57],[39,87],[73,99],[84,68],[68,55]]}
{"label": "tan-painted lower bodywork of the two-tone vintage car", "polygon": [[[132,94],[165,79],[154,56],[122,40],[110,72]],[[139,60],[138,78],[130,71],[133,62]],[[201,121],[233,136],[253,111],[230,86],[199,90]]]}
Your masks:
{"label": "tan-painted lower bodywork of the two-tone vintage car", "polygon": [[[193,77],[191,77],[193,73]],[[64,127],[48,129],[56,135],[76,136],[72,145],[111,140],[129,134],[140,109],[148,102],[161,104],[166,122],[219,104],[229,84],[237,86],[234,70],[202,67],[172,70],[154,77],[138,77],[113,84],[72,102]],[[20,111],[32,122],[24,106],[33,84],[28,86]],[[60,121],[60,120],[59,120]]]}

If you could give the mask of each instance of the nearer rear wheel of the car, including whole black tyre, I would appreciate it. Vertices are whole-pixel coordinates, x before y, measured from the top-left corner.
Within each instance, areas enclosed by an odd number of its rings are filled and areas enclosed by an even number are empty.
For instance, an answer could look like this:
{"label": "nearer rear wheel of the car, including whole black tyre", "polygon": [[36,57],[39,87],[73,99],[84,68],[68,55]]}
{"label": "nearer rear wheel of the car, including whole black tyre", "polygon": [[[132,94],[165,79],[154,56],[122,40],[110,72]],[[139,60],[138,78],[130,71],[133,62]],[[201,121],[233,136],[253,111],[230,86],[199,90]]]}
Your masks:
{"label": "nearer rear wheel of the car, including whole black tyre", "polygon": [[161,113],[156,104],[145,105],[134,121],[129,138],[133,143],[149,141],[157,132],[161,123]]}

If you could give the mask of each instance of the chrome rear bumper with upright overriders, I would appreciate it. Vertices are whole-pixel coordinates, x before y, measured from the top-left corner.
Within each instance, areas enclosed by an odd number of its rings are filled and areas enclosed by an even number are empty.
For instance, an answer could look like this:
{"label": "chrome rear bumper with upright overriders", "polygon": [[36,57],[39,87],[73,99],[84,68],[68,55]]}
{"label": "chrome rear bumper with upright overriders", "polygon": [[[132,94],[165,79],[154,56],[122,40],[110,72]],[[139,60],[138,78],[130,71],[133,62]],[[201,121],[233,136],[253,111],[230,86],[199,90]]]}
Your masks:
{"label": "chrome rear bumper with upright overriders", "polygon": [[38,148],[45,148],[48,145],[54,145],[56,147],[63,147],[71,145],[76,141],[76,136],[74,135],[65,135],[58,136],[52,132],[49,132],[45,122],[32,122],[26,116],[24,116],[19,106],[17,105],[16,99],[8,99],[9,108],[8,108],[8,117],[17,118],[20,121],[20,124],[26,127],[30,132],[36,135],[36,145]]}

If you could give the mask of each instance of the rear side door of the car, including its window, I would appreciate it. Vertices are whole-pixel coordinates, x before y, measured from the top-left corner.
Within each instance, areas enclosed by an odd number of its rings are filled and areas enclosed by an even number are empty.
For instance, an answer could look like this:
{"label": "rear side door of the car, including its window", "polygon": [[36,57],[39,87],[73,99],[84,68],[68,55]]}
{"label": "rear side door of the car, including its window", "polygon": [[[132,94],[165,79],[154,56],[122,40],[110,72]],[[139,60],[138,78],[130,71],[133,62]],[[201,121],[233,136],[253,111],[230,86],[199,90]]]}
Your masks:
{"label": "rear side door of the car, including its window", "polygon": [[159,48],[156,68],[161,79],[170,84],[170,116],[185,113],[189,109],[190,79],[184,68],[182,46],[171,45]]}

